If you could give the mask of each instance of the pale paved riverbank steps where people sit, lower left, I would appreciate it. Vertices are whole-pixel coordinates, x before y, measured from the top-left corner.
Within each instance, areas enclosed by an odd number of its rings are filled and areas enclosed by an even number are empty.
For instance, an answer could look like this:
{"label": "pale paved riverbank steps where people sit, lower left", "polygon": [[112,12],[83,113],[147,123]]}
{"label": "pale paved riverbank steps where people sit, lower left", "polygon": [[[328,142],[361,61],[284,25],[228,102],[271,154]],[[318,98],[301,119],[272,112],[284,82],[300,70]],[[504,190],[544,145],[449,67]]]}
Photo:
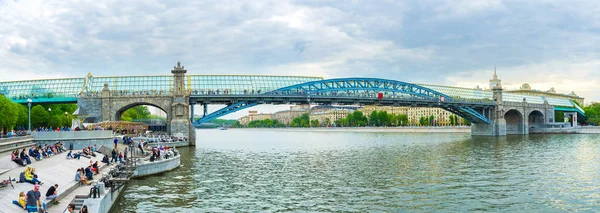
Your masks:
{"label": "pale paved riverbank steps where people sit, lower left", "polygon": [[[87,189],[82,189],[84,187],[80,186],[79,183],[75,181],[75,173],[77,168],[87,167],[90,165],[90,161],[100,162],[104,156],[100,153],[96,153],[96,157],[81,157],[81,159],[77,160],[67,159],[67,153],[68,151],[54,155],[50,158],[43,159],[41,161],[33,160],[30,164],[30,166],[35,168],[35,173],[38,175],[40,181],[43,182],[40,187],[42,199],[46,199],[46,191],[48,191],[51,186],[58,184],[57,191],[60,198],[60,204],[49,207],[49,212],[64,212],[74,195],[77,194],[75,193],[77,191],[87,190],[86,192],[82,191],[82,194],[89,193],[89,186],[85,187]],[[15,164],[14,162],[10,161],[10,155],[0,157],[0,162],[0,164]],[[102,167],[104,167],[103,165],[104,163],[100,163],[101,170]],[[9,176],[19,180],[19,174],[23,172],[25,168],[26,167],[21,166],[11,168],[8,171],[0,174],[0,180],[6,180]],[[94,175],[94,179],[100,179],[101,174],[102,173],[99,175]],[[19,198],[20,192],[27,193],[29,190],[32,190],[34,185],[30,183],[16,183],[16,181],[13,182],[13,185],[15,187],[14,189],[11,186],[0,188],[0,212],[25,212],[25,210],[13,204],[12,201]]]}

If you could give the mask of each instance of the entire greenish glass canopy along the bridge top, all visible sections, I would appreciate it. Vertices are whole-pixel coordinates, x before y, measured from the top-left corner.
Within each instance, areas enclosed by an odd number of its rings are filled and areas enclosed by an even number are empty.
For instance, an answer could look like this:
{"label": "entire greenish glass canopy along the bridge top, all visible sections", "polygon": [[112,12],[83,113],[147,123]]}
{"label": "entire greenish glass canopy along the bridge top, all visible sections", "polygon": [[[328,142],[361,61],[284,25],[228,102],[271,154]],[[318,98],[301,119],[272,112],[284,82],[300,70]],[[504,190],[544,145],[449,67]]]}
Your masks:
{"label": "entire greenish glass canopy along the bridge top, all visible sections", "polygon": [[[192,96],[202,95],[252,95],[262,94],[279,88],[321,81],[321,77],[305,76],[259,76],[259,75],[186,75],[185,89]],[[0,82],[0,94],[17,103],[33,102],[76,102],[81,93],[98,95],[104,85],[113,95],[127,94],[170,94],[173,87],[172,75],[160,76],[116,76],[43,79],[30,81]],[[419,84],[456,99],[492,100],[491,91],[450,86]],[[503,93],[503,100],[573,107],[579,106],[568,99],[549,98],[522,94]],[[583,111],[583,110],[581,110]]]}

